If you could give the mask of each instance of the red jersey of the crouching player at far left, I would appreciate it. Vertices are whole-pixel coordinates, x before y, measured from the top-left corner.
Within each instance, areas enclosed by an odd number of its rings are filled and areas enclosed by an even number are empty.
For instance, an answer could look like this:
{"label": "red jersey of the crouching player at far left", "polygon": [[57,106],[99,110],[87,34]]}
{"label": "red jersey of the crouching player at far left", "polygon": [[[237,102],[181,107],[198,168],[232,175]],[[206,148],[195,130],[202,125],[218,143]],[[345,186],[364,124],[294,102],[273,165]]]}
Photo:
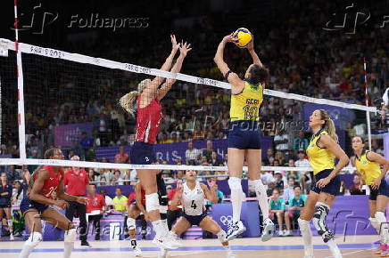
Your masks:
{"label": "red jersey of the crouching player at far left", "polygon": [[[42,168],[49,173],[49,177],[44,181],[40,194],[46,198],[55,199],[57,198],[58,186],[63,178],[63,169],[62,167],[59,167],[58,173],[55,173],[52,165],[44,165]],[[33,181],[37,180],[37,173],[33,174],[32,179]]]}

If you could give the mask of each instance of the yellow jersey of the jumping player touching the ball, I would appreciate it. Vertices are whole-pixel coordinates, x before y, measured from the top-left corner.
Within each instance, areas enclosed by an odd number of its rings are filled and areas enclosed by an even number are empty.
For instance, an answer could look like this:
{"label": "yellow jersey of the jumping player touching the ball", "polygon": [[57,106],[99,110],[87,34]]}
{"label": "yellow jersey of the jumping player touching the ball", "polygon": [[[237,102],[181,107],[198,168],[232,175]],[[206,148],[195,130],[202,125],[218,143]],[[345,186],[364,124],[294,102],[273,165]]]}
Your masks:
{"label": "yellow jersey of the jumping player touching the ball", "polygon": [[229,109],[229,117],[231,121],[259,121],[262,101],[262,85],[252,85],[246,81],[242,93],[231,95],[231,109]]}

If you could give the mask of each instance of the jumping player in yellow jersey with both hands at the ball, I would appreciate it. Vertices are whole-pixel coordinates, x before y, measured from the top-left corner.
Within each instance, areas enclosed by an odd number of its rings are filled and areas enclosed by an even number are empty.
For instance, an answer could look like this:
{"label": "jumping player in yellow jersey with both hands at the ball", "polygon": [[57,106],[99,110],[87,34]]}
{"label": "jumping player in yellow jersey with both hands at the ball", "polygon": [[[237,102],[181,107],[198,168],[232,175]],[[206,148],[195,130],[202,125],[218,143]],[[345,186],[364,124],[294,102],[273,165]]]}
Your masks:
{"label": "jumping player in yellow jersey with both hands at the ball", "polygon": [[269,77],[266,69],[254,51],[253,42],[247,45],[252,56],[252,65],[246,70],[244,79],[228,69],[223,60],[223,52],[228,42],[234,42],[232,36],[225,36],[220,42],[214,61],[220,72],[231,85],[230,126],[228,129],[228,185],[231,189],[233,222],[228,227],[227,239],[231,240],[245,230],[240,221],[242,210],[242,168],[244,159],[247,162],[248,174],[263,215],[262,241],[272,237],[274,224],[269,219],[269,204],[266,189],[261,181],[261,130],[259,113],[263,100],[263,88]]}

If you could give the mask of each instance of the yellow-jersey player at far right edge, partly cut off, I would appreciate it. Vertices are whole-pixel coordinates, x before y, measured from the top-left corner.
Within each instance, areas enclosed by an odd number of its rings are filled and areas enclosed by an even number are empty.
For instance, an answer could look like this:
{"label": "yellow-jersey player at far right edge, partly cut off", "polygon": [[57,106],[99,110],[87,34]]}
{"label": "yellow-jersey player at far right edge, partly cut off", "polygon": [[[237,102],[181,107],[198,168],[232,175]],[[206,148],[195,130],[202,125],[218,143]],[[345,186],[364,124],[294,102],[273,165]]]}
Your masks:
{"label": "yellow-jersey player at far right edge, partly cut off", "polygon": [[[365,181],[370,189],[368,208],[370,210],[370,222],[380,235],[380,245],[375,254],[381,257],[389,256],[389,233],[385,217],[385,209],[389,197],[389,185],[385,181],[385,175],[389,170],[389,160],[373,151],[364,149],[365,143],[360,136],[352,138],[352,149],[355,153],[355,166],[357,173]],[[384,165],[381,170],[379,165]]]}

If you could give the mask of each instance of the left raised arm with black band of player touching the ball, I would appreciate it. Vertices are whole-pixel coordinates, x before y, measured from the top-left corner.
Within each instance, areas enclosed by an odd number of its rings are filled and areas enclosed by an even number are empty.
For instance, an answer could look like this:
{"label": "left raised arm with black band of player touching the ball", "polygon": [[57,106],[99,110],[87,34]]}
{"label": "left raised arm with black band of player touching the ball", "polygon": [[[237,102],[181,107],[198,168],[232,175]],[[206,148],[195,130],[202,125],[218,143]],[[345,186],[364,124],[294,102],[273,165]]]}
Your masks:
{"label": "left raised arm with black band of player touching the ball", "polygon": [[219,43],[218,50],[215,53],[213,61],[218,66],[218,69],[220,70],[223,77],[226,78],[228,83],[231,84],[231,93],[236,94],[242,92],[242,89],[244,87],[244,80],[239,78],[236,73],[231,72],[223,57],[224,48],[226,47],[226,44],[232,41],[233,38],[230,35],[223,37],[223,40],[221,40],[221,42]]}

